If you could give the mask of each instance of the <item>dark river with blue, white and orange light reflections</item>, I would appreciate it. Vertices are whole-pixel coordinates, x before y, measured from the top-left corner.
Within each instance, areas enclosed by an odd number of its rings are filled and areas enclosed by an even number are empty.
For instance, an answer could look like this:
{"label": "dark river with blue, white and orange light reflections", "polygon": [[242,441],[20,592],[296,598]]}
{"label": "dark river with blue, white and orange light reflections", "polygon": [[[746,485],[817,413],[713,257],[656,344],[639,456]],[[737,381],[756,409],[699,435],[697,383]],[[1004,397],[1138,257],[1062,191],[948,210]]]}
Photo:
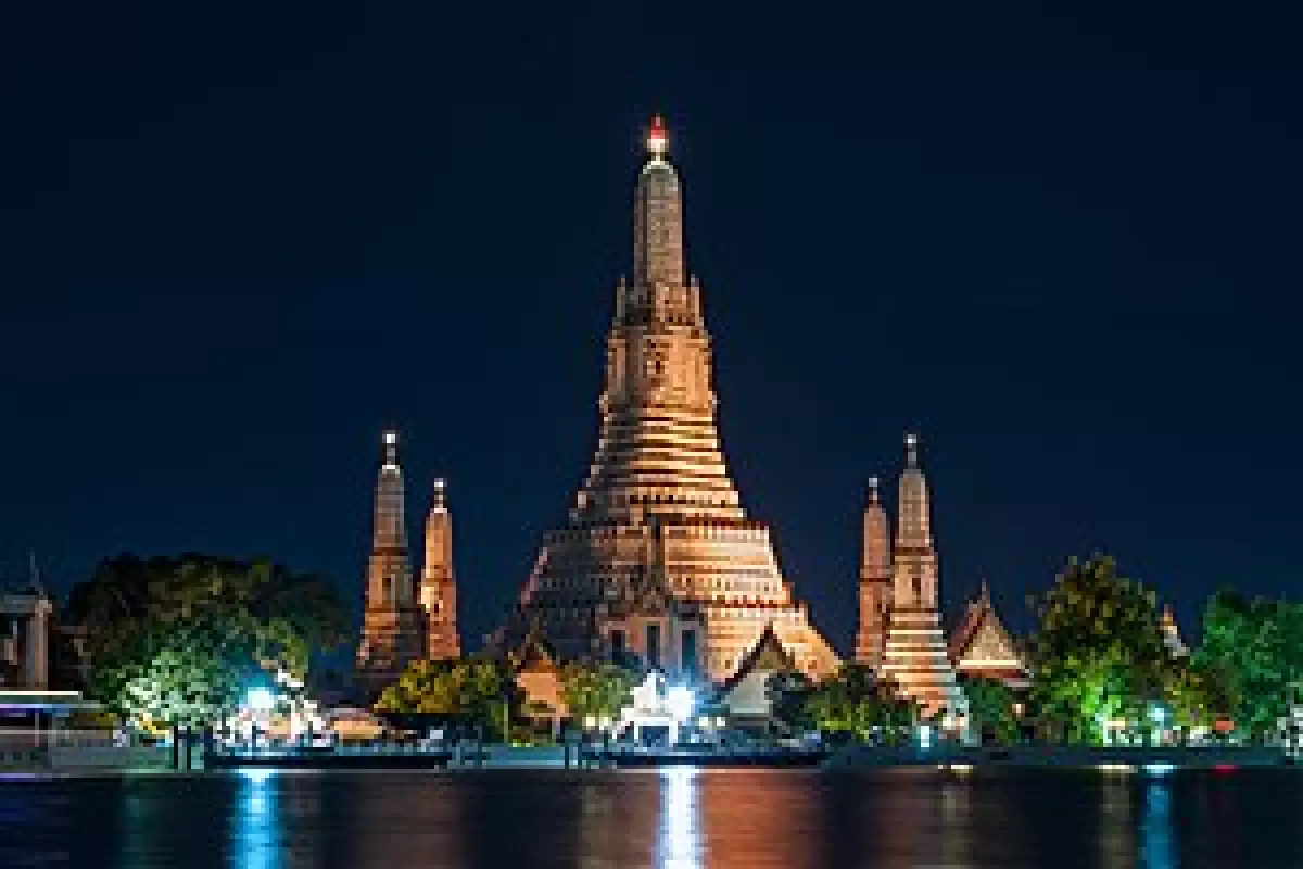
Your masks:
{"label": "dark river with blue, white and orange light reflections", "polygon": [[0,784],[0,866],[1291,866],[1299,819],[1287,770],[106,776]]}

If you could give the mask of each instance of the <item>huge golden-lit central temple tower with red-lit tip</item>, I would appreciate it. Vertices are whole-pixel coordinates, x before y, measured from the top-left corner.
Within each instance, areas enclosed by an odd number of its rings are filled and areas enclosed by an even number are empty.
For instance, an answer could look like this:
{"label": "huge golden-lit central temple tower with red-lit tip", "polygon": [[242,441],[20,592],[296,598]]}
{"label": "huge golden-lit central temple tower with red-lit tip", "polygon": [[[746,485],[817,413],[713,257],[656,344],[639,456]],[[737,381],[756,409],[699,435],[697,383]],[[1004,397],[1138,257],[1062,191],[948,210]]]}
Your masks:
{"label": "huge golden-lit central temple tower with red-lit tip", "polygon": [[563,657],[632,654],[722,681],[773,625],[796,664],[821,676],[837,655],[724,466],[667,143],[657,119],[635,195],[633,280],[616,287],[606,341],[597,453],[569,524],[545,537],[504,638],[538,624]]}

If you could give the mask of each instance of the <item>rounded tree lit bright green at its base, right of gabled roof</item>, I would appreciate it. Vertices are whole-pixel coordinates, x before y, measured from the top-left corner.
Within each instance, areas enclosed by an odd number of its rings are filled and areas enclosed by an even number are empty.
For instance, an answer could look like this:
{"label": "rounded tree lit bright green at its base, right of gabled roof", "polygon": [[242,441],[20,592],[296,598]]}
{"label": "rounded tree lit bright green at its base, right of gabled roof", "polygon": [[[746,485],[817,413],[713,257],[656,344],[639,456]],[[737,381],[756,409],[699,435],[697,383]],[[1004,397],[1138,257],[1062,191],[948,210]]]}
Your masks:
{"label": "rounded tree lit bright green at its base, right of gabled roof", "polygon": [[1141,720],[1181,667],[1162,641],[1153,591],[1118,576],[1108,556],[1070,559],[1031,605],[1032,698],[1070,740],[1098,739],[1110,720]]}

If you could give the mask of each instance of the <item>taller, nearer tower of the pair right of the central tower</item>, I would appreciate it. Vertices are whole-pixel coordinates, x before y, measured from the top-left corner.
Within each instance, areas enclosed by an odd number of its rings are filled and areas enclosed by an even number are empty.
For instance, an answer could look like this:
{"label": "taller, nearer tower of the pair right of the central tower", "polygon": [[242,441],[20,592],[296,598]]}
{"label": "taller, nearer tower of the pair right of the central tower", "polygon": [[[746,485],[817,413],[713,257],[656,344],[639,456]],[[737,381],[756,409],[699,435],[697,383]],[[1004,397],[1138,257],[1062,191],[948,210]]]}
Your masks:
{"label": "taller, nearer tower of the pair right of the central tower", "polygon": [[919,440],[906,435],[899,519],[893,558],[891,615],[881,672],[929,714],[967,715],[955,683],[937,601],[937,550],[932,541],[928,481],[919,468]]}

